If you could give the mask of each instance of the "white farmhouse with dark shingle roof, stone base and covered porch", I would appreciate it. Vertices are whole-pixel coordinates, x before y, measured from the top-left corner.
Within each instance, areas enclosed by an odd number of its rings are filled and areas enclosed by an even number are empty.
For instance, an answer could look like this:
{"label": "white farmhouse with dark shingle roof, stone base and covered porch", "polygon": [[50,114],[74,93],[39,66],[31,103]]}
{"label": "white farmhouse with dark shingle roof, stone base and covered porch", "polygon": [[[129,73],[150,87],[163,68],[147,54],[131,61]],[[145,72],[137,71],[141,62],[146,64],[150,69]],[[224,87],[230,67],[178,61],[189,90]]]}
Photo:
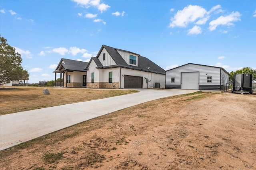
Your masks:
{"label": "white farmhouse with dark shingle roof, stone base and covered porch", "polygon": [[65,87],[165,88],[165,72],[137,53],[102,45],[89,63],[61,59],[55,72]]}

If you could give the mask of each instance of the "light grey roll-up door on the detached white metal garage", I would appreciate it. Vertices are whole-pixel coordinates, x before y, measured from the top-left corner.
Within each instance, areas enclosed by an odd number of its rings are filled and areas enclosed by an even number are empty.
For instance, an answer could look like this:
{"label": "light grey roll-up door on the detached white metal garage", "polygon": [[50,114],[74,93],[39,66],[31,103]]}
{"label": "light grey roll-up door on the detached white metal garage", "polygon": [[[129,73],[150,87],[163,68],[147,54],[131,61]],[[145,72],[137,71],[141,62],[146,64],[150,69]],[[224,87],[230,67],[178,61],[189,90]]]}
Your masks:
{"label": "light grey roll-up door on the detached white metal garage", "polygon": [[182,72],[181,89],[199,89],[199,72]]}

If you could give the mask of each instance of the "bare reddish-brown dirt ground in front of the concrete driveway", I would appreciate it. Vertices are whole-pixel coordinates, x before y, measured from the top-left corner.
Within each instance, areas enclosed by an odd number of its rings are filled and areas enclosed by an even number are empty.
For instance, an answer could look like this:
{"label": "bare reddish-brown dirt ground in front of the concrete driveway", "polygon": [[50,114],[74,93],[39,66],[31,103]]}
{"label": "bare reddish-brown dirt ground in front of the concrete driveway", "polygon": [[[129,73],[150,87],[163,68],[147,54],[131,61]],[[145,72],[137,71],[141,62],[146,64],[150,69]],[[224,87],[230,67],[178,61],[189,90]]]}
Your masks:
{"label": "bare reddish-brown dirt ground in front of the concrete driveway", "polygon": [[0,152],[1,170],[256,169],[256,95],[174,96]]}

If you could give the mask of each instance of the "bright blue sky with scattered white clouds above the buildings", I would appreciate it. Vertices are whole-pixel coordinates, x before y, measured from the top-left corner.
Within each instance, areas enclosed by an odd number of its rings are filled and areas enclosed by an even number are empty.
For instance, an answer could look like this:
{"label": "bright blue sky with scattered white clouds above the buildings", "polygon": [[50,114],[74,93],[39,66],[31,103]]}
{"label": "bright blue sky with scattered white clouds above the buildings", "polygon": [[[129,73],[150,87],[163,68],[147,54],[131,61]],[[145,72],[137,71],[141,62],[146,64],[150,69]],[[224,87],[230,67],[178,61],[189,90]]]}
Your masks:
{"label": "bright blue sky with scattered white clouds above the buildings", "polygon": [[88,62],[103,44],[166,70],[256,69],[255,0],[1,0],[0,34],[22,55],[28,83],[54,80],[61,58]]}

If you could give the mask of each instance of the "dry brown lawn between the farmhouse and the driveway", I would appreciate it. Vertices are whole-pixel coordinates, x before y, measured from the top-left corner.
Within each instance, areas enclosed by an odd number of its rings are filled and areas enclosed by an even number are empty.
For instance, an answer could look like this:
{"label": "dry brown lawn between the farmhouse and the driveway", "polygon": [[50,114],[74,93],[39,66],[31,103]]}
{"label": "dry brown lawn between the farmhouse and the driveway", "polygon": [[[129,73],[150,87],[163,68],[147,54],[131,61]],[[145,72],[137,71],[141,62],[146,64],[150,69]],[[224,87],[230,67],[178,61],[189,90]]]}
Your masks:
{"label": "dry brown lawn between the farmhouse and the driveway", "polygon": [[43,95],[44,88],[46,87],[0,88],[0,115],[138,92],[136,90],[48,88],[50,95]]}

